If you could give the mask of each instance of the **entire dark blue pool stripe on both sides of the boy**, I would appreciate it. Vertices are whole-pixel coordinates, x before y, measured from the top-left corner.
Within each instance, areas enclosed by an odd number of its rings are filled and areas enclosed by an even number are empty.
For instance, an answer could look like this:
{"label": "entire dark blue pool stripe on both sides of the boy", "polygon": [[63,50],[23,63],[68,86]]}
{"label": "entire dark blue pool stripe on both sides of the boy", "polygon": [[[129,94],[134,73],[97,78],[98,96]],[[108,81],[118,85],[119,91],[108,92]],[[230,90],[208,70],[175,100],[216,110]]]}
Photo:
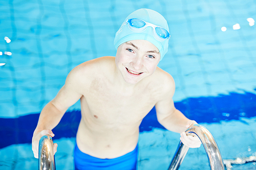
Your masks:
{"label": "entire dark blue pool stripe on both sides of the boy", "polygon": [[[220,120],[256,116],[256,95],[245,92],[207,98],[189,98],[176,102],[175,106],[188,118],[195,119],[198,123],[218,123]],[[0,118],[0,148],[11,144],[30,143],[38,117],[39,113],[18,118]],[[80,111],[67,112],[53,130],[54,139],[75,137],[80,117]],[[163,128],[157,122],[155,108],[143,119],[140,132],[151,131],[152,128]]]}

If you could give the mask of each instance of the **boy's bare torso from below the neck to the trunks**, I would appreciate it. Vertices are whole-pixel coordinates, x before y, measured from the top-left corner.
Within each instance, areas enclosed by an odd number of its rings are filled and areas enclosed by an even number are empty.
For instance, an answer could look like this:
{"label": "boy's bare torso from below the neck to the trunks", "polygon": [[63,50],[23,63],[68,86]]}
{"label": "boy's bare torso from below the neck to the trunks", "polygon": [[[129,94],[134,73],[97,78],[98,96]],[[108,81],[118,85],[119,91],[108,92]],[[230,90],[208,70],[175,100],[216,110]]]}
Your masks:
{"label": "boy's bare torso from below the neck to the trunks", "polygon": [[105,64],[95,62],[97,68],[90,70],[92,76],[84,83],[77,132],[78,148],[102,159],[116,158],[135,149],[142,119],[161,99],[160,68],[134,88],[126,89],[120,88],[113,77],[115,58],[103,60]]}

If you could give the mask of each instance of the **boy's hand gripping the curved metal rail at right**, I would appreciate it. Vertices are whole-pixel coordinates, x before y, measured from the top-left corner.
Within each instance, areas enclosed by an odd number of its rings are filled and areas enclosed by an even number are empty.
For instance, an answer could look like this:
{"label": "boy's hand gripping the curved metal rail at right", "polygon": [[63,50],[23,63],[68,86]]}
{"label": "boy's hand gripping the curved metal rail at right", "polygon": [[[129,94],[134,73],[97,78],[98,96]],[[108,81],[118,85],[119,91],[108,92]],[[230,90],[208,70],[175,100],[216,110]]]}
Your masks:
{"label": "boy's hand gripping the curved metal rail at right", "polygon": [[[197,122],[195,120],[189,120],[187,122],[186,128],[189,128],[191,125],[195,125]],[[189,148],[199,148],[201,146],[201,140],[197,135],[193,136],[195,134],[186,135],[185,132],[182,132],[180,134],[180,140],[184,145],[186,145]]]}

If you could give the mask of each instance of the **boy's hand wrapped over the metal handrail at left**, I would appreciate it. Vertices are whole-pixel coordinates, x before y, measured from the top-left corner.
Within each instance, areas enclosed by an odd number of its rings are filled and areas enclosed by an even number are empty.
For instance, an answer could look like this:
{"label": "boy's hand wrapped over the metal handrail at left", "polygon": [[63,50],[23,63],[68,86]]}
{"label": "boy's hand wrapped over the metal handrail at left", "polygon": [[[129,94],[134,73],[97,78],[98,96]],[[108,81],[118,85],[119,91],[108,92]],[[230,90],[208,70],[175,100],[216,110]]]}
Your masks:
{"label": "boy's hand wrapped over the metal handrail at left", "polygon": [[[34,153],[34,157],[38,159],[38,147],[39,147],[39,140],[42,136],[50,135],[51,137],[54,136],[51,130],[42,130],[41,132],[34,133],[32,138],[32,151]],[[55,154],[57,152],[58,144],[53,144],[53,153]]]}

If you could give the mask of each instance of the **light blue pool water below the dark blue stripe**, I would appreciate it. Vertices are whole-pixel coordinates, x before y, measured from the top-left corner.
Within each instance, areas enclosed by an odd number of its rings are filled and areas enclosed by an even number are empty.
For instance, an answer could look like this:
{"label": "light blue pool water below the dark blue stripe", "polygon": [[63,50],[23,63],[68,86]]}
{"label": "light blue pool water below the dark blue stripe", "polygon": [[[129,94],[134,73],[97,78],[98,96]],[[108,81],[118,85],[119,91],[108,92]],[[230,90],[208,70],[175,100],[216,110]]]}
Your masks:
{"label": "light blue pool water below the dark blue stripe", "polygon": [[[221,123],[201,124],[215,137],[223,159],[236,159],[256,155],[256,117]],[[243,128],[241,128],[243,127]],[[75,138],[61,138],[55,155],[56,169],[73,169]],[[138,169],[167,169],[179,143],[179,134],[160,128],[144,131],[139,137]],[[33,157],[31,144],[13,144],[0,150],[1,169],[36,169],[38,160]],[[210,169],[201,145],[189,149],[179,169]],[[255,162],[233,165],[232,169],[256,169]]]}

